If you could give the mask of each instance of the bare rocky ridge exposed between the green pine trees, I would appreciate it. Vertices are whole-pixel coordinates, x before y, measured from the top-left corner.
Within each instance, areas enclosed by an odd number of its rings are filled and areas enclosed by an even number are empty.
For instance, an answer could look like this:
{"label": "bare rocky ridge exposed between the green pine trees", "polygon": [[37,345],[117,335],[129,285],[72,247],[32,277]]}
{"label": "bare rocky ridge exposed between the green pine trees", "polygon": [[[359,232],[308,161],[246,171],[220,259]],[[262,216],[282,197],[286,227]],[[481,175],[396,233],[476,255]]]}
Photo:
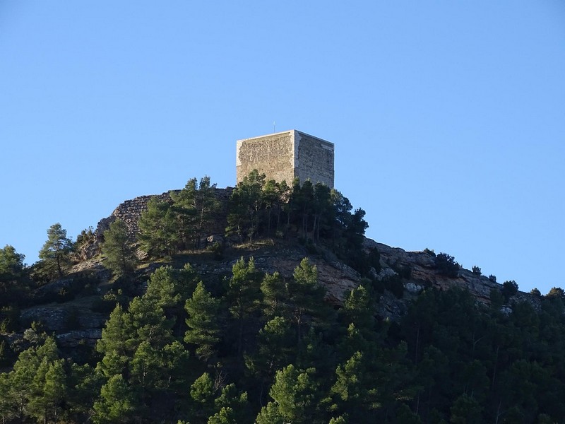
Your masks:
{"label": "bare rocky ridge exposed between the green pine trees", "polygon": [[[216,224],[206,235],[206,240],[212,242],[220,240],[229,247],[230,242],[223,239],[223,230],[225,228],[227,216],[227,199],[232,189],[216,189],[218,199],[220,199],[223,208],[216,217]],[[73,302],[66,304],[50,303],[36,307],[30,307],[23,310],[21,319],[24,322],[38,321],[49,332],[57,334],[62,346],[74,347],[78,343],[93,344],[100,338],[101,329],[107,319],[106,314],[93,312],[91,305],[93,298],[100,298],[100,291],[107,289],[110,274],[104,268],[100,257],[97,257],[98,246],[102,239],[103,232],[109,227],[109,224],[116,219],[124,220],[129,228],[130,236],[133,238],[138,232],[138,218],[147,208],[150,199],[160,199],[168,201],[170,199],[169,192],[156,196],[140,196],[135,199],[124,201],[113,212],[112,215],[103,218],[97,225],[93,242],[83,252],[85,259],[78,264],[73,270],[69,278],[55,281],[40,289],[38,296],[49,298],[49,292],[60,293],[61,290],[71,290],[73,285],[77,284],[77,276],[83,273],[90,273],[98,282],[97,293],[78,298]],[[426,252],[407,252],[398,247],[390,247],[374,240],[366,238],[364,240],[364,248],[377,249],[380,254],[381,269],[377,273],[373,269],[374,278],[383,281],[398,274],[398,269],[409,269],[408,276],[403,275],[403,295],[398,298],[392,293],[385,290],[381,294],[379,303],[375,310],[375,315],[380,319],[399,319],[408,310],[411,300],[417,298],[417,295],[425,288],[438,288],[447,290],[448,288],[458,287],[465,288],[477,298],[478,302],[489,303],[490,291],[501,289],[501,285],[491,281],[485,276],[480,276],[467,269],[460,268],[455,278],[449,278],[441,275],[436,269],[434,257]],[[256,268],[266,273],[278,271],[283,278],[292,278],[294,269],[304,257],[310,257],[311,261],[316,264],[319,272],[319,282],[326,288],[326,301],[335,307],[341,307],[347,293],[356,288],[361,276],[357,271],[338,261],[331,252],[321,251],[316,255],[309,255],[307,250],[297,243],[278,243],[266,244],[263,247],[255,247],[254,249],[232,249],[231,257],[225,260],[198,263],[191,261],[196,271],[201,273],[203,279],[206,278],[222,278],[228,275],[232,269],[232,265],[239,257],[254,257]],[[153,264],[148,270],[156,269],[162,264]],[[516,300],[527,300],[533,305],[537,305],[537,300],[533,296],[526,293],[520,293],[515,296]],[[90,302],[90,303],[89,303]],[[73,329],[69,329],[69,322],[73,324]],[[83,341],[83,342],[81,342]]]}

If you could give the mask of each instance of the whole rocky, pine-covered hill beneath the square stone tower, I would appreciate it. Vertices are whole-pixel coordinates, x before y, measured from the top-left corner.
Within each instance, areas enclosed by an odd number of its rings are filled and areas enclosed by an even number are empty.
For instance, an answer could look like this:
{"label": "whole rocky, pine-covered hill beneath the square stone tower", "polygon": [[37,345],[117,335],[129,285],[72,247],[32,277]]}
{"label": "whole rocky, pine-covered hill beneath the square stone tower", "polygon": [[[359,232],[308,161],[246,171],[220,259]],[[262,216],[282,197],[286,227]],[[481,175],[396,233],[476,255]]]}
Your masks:
{"label": "whole rocky, pine-covered hill beneath the square stone tower", "polygon": [[[324,187],[190,180],[120,204],[63,277],[11,271],[5,422],[565,419],[563,290],[367,239]],[[135,266],[109,265],[119,228]]]}

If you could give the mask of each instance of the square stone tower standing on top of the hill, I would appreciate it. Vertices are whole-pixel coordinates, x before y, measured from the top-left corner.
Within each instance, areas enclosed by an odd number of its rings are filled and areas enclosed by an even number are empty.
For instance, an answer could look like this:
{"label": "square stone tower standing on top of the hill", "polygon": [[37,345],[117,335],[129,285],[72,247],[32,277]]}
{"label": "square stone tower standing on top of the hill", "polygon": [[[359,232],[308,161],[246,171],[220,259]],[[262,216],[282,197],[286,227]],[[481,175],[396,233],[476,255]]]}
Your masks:
{"label": "square stone tower standing on top of the hill", "polygon": [[333,188],[333,143],[292,129],[237,141],[237,182],[252,170],[292,184],[310,179]]}

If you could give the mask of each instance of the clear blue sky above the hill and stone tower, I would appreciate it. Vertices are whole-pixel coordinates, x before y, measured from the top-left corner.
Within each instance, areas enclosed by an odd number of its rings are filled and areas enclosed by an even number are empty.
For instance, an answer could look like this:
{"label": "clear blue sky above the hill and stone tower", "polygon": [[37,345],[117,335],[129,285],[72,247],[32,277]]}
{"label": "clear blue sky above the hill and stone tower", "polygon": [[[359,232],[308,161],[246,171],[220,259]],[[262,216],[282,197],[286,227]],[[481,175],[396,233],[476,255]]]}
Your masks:
{"label": "clear blue sky above the hill and stone tower", "polygon": [[0,245],[232,186],[273,121],[335,143],[374,240],[565,287],[561,0],[0,0]]}

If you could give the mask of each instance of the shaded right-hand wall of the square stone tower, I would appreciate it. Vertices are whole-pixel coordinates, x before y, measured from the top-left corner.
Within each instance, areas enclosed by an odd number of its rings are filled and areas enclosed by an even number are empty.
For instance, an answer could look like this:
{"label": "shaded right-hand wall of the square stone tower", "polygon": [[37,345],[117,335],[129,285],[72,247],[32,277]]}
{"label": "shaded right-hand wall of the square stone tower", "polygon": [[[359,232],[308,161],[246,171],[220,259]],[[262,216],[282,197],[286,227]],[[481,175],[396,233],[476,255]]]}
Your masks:
{"label": "shaded right-hand wall of the square stone tower", "polygon": [[296,131],[295,176],[333,188],[333,143]]}

